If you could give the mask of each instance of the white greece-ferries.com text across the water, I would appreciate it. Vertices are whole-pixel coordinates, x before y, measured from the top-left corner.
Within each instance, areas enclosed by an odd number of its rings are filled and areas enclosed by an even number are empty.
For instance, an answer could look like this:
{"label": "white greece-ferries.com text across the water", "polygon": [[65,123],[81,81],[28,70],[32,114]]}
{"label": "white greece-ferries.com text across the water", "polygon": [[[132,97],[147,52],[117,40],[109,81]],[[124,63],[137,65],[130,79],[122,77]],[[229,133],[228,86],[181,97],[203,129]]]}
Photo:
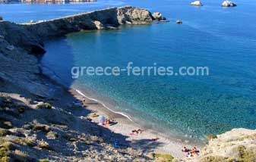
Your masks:
{"label": "white greece-ferries.com text across the water", "polygon": [[133,66],[133,62],[128,62],[125,68],[121,67],[72,67],[71,75],[73,79],[80,76],[209,76],[209,67],[158,67],[156,63],[150,67]]}

